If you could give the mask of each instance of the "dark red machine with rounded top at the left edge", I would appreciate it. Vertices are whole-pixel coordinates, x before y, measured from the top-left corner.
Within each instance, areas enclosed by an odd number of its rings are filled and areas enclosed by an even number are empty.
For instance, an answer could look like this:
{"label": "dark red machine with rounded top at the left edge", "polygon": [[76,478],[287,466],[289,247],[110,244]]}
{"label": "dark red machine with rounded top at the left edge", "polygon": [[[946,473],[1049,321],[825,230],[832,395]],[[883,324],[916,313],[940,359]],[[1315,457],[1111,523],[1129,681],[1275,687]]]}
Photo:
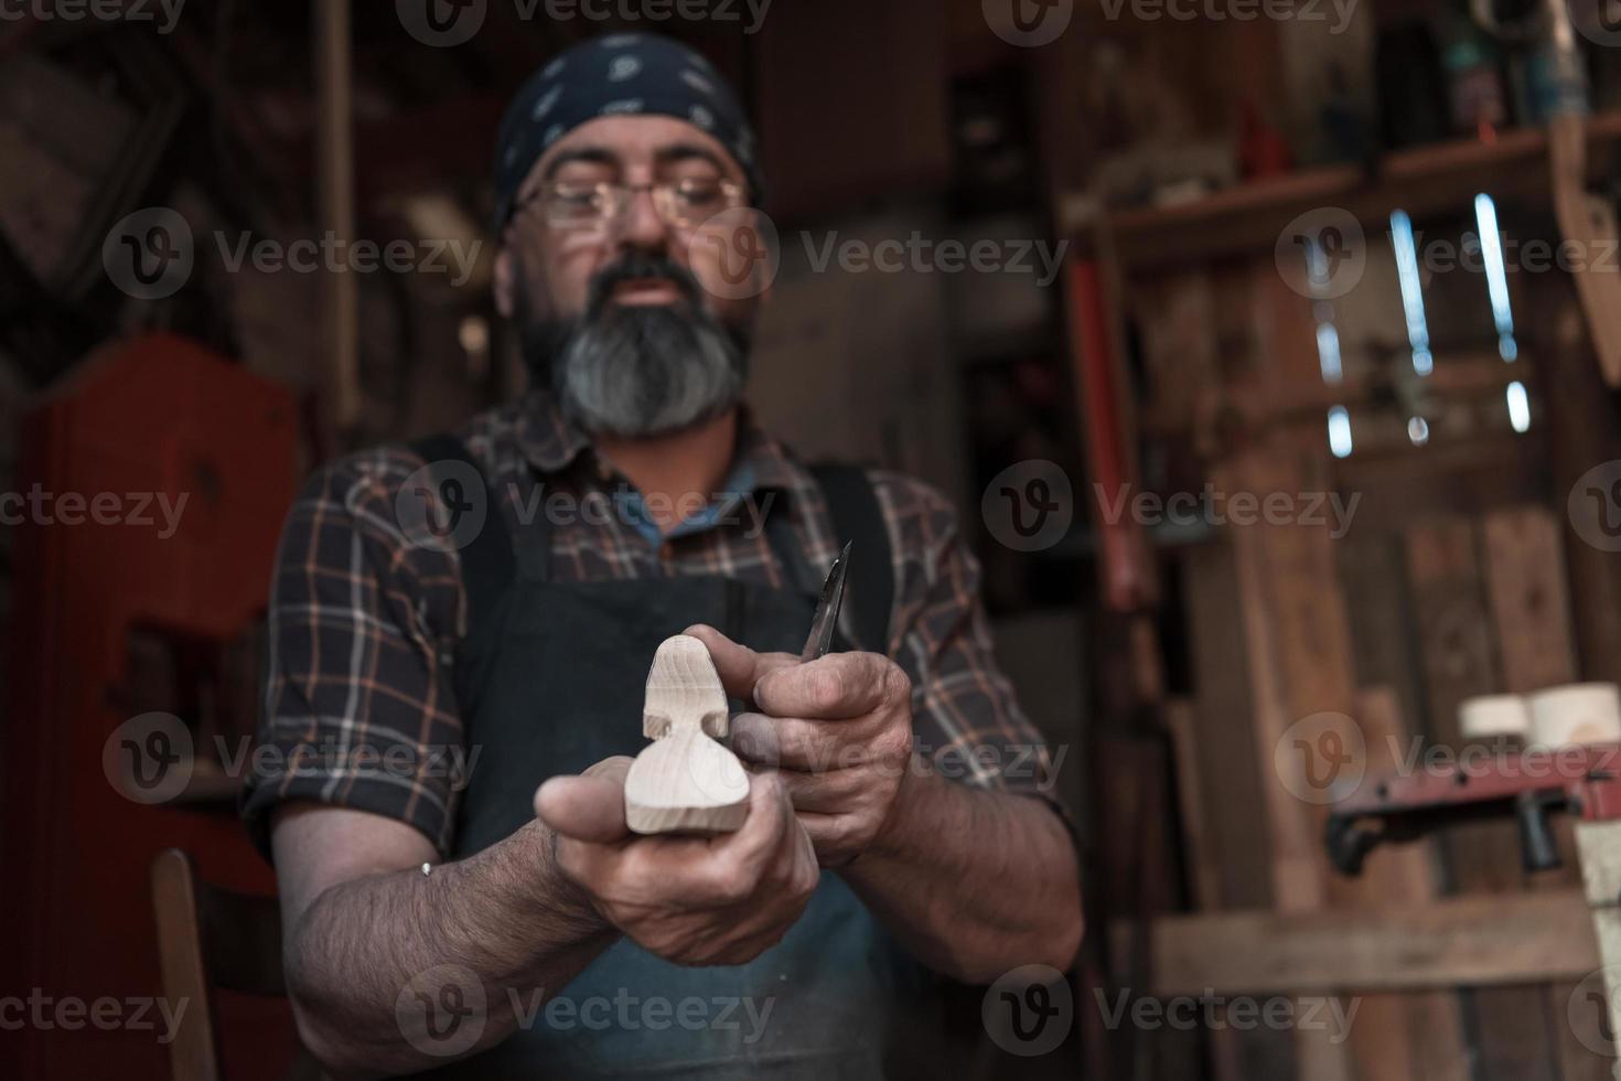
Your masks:
{"label": "dark red machine with rounded top at the left edge", "polygon": [[[16,525],[10,708],[0,852],[11,888],[0,911],[11,945],[5,995],[78,998],[78,1026],[26,1006],[21,1062],[8,1076],[167,1078],[160,1013],[151,1029],[89,1021],[102,998],[162,993],[148,867],[167,846],[203,877],[271,893],[274,878],[229,807],[143,805],[120,794],[102,749],[128,720],[122,689],[130,632],[156,627],[230,640],[264,611],[282,517],[293,498],[292,395],[193,342],[149,335],[109,347],[24,421],[16,496],[44,493],[44,514]],[[37,485],[37,488],[36,488]],[[60,498],[110,493],[122,520],[76,525]],[[172,535],[143,496],[186,498]],[[112,506],[104,499],[104,507]],[[78,512],[83,517],[83,509]],[[107,517],[105,514],[102,515]],[[284,1002],[222,995],[233,1078],[284,1076],[293,1028]],[[133,1008],[122,1005],[128,1019]]]}

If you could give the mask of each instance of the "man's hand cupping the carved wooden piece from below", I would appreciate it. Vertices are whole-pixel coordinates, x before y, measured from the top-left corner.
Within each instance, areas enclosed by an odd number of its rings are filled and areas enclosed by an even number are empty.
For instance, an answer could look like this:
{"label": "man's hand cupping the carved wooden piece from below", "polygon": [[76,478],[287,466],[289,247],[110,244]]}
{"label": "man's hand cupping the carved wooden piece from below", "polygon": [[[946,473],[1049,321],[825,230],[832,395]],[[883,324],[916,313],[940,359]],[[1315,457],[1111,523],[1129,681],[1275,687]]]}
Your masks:
{"label": "man's hand cupping the carved wooden piece from below", "polygon": [[603,919],[676,964],[742,964],[781,940],[815,891],[815,849],[776,773],[751,773],[749,817],[715,836],[631,833],[608,758],[535,791],[559,870]]}

